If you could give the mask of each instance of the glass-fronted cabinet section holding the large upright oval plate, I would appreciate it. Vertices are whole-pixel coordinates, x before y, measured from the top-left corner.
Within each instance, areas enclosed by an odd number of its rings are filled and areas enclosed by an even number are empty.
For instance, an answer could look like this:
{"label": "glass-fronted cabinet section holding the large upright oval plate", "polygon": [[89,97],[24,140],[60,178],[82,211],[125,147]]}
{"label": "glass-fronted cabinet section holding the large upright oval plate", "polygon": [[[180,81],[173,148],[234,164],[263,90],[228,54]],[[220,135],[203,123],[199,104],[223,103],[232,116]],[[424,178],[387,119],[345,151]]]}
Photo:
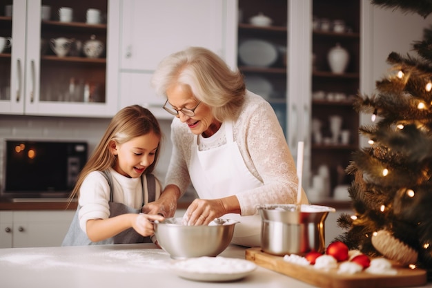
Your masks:
{"label": "glass-fronted cabinet section holding the large upright oval plate", "polygon": [[238,67],[246,87],[275,109],[286,132],[287,1],[239,0]]}

